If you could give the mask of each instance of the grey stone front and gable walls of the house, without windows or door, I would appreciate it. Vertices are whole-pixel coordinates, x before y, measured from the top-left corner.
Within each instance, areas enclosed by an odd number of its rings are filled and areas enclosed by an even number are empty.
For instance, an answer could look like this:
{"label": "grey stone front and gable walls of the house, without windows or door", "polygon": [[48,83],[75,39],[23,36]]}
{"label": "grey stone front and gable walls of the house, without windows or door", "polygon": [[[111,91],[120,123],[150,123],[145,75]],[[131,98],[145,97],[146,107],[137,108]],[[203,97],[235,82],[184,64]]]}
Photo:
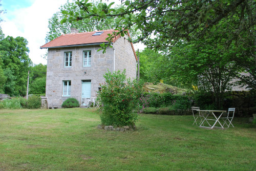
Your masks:
{"label": "grey stone front and gable walls of the house, without windows or door", "polygon": [[[120,37],[106,53],[97,52],[99,45],[49,48],[47,60],[46,97],[49,108],[60,108],[63,101],[73,97],[82,104],[82,81],[91,80],[91,98],[96,98],[99,83],[109,70],[123,71],[130,78],[136,77],[136,58],[127,37]],[[91,66],[83,67],[83,51],[91,51]],[[72,52],[72,66],[65,67],[65,52]],[[63,81],[71,81],[70,96],[63,96]]]}

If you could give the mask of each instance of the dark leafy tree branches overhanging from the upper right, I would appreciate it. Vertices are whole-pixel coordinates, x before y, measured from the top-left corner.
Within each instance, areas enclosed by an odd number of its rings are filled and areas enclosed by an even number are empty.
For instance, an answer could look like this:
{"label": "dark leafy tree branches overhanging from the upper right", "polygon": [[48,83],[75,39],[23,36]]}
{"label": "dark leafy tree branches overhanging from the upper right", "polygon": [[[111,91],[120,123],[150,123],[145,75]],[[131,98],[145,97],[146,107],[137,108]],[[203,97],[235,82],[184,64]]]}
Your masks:
{"label": "dark leafy tree branches overhanging from the upper right", "polygon": [[[135,26],[141,31],[141,35],[134,42],[142,41],[151,48],[172,52],[174,45],[181,42],[197,41],[202,37],[212,38],[210,33],[219,29],[223,23],[228,29],[223,29],[223,34],[229,31],[230,37],[226,37],[228,44],[235,45],[229,53],[229,59],[234,65],[240,67],[250,75],[242,79],[250,88],[256,89],[256,2],[253,0],[220,0],[220,1],[156,1],[134,0],[122,3],[123,10],[114,12],[110,5],[101,8],[92,8],[87,0],[76,2],[84,11],[83,15],[70,15],[62,11],[66,19],[62,22],[81,20],[83,18],[118,17],[123,20],[121,25],[116,25],[119,32],[110,35],[110,43],[103,46],[105,49],[111,46],[111,40],[115,36],[126,34],[126,29]],[[136,17],[130,17],[134,14]],[[135,29],[135,30],[136,30]],[[221,35],[222,35],[221,33]],[[152,34],[154,36],[152,36]],[[210,42],[209,45],[212,45]],[[226,46],[226,50],[229,50]],[[238,50],[242,50],[239,53]],[[234,50],[234,51],[233,51]],[[241,61],[245,65],[241,65]],[[253,62],[251,62],[253,61]],[[253,64],[253,65],[252,65]],[[220,65],[220,63],[218,64]],[[233,74],[240,77],[238,72]],[[242,77],[240,77],[242,78]],[[250,81],[252,80],[252,81]]]}

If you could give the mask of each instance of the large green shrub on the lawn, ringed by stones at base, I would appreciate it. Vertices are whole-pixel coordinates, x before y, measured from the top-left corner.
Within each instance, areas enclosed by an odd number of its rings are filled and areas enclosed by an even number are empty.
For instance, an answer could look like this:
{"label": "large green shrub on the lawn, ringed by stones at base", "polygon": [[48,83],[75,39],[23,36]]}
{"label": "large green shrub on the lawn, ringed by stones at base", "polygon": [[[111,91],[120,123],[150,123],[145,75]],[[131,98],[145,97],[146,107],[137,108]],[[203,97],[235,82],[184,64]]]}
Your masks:
{"label": "large green shrub on the lawn, ringed by stones at base", "polygon": [[100,116],[103,125],[124,126],[134,125],[137,114],[132,111],[142,93],[142,84],[136,80],[125,79],[125,70],[107,72],[105,83],[101,84],[98,98],[103,104]]}

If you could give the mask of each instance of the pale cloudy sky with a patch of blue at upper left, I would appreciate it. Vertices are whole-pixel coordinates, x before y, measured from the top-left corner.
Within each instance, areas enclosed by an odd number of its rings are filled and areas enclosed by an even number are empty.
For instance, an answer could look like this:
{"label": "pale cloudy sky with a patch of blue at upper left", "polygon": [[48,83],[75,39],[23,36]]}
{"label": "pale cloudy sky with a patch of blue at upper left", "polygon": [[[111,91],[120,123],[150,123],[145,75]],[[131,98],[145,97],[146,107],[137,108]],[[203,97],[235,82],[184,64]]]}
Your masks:
{"label": "pale cloudy sky with a patch of blue at upper left", "polygon": [[[3,33],[5,36],[26,38],[32,62],[46,65],[47,60],[42,56],[47,50],[40,49],[40,46],[46,44],[48,19],[66,2],[67,0],[2,0],[1,8],[6,10],[6,13],[1,15],[4,20],[1,23]],[[143,49],[143,46],[135,45],[135,49],[138,48]]]}

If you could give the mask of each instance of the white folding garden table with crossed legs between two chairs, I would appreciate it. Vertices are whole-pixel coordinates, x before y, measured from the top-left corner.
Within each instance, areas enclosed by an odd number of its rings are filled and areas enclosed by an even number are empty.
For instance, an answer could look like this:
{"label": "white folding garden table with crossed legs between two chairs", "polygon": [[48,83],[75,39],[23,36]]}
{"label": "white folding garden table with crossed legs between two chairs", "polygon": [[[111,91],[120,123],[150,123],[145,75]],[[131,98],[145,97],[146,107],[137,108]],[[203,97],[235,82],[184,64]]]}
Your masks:
{"label": "white folding garden table with crossed legs between two chairs", "polygon": [[[216,123],[218,122],[221,127],[221,129],[224,129],[223,125],[221,124],[221,122],[219,121],[219,119],[221,118],[222,114],[227,112],[227,111],[215,111],[215,110],[197,110],[201,116],[204,118],[204,120],[202,121],[202,123],[199,125],[200,127],[205,127],[205,128],[208,128],[208,129],[213,129],[214,127],[219,127],[219,126],[215,126]],[[217,117],[217,113],[219,114],[219,117]],[[214,119],[209,119],[209,116],[214,116]],[[213,125],[211,125],[208,120],[212,120],[212,121],[215,121]],[[207,122],[207,124],[209,126],[204,126],[204,122]]]}

